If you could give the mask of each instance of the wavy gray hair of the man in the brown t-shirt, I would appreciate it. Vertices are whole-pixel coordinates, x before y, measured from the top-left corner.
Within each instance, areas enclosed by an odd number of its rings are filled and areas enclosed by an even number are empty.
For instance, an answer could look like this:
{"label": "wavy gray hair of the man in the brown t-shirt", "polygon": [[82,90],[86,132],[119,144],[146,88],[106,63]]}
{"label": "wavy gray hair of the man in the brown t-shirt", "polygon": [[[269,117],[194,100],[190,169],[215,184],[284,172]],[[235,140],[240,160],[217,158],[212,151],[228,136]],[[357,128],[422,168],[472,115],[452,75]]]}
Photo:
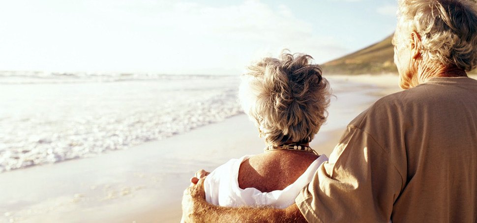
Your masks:
{"label": "wavy gray hair of the man in the brown t-shirt", "polygon": [[395,42],[410,39],[412,31],[420,35],[425,62],[477,67],[476,0],[399,0],[397,27]]}

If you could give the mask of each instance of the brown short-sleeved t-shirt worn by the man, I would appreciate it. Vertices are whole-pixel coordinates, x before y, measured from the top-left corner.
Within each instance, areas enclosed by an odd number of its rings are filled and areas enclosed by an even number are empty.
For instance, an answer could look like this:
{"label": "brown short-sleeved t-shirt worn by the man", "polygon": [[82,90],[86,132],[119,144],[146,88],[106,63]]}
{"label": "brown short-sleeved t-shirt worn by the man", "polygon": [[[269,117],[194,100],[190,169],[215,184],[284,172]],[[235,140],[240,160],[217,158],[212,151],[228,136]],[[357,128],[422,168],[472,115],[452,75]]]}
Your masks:
{"label": "brown short-sleeved t-shirt worn by the man", "polygon": [[477,222],[477,81],[432,78],[378,100],[296,203],[308,222]]}

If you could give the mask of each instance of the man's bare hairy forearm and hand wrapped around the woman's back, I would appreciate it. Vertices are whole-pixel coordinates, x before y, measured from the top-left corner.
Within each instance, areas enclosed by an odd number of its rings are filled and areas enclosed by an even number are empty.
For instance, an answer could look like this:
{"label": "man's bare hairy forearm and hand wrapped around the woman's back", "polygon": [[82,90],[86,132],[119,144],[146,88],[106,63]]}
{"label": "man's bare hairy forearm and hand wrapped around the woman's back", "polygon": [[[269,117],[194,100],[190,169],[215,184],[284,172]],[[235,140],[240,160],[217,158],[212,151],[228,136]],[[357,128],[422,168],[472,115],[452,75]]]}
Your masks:
{"label": "man's bare hairy forearm and hand wrapped around the woman's back", "polygon": [[254,223],[306,223],[296,204],[285,208],[220,207],[207,203],[204,193],[204,179],[191,185],[182,197],[183,222],[254,222]]}

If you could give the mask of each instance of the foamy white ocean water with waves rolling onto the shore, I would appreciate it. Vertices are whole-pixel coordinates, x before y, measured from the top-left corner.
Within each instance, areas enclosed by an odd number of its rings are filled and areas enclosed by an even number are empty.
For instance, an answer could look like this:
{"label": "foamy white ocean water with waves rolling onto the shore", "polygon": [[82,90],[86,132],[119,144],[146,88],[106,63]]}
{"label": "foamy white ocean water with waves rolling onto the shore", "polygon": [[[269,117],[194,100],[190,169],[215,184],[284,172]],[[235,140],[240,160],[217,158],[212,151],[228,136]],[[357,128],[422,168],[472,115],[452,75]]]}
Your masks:
{"label": "foamy white ocean water with waves rolling onto the shore", "polygon": [[0,172],[221,121],[241,112],[238,85],[238,76],[0,72]]}

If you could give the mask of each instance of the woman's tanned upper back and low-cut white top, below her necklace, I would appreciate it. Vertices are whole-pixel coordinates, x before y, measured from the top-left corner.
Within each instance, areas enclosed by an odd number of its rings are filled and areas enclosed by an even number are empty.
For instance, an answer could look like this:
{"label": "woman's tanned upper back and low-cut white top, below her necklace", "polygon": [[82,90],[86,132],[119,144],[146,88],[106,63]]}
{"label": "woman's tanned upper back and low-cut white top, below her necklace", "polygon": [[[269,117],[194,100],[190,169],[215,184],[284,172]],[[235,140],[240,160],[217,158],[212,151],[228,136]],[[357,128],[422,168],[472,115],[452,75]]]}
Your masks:
{"label": "woman's tanned upper back and low-cut white top, below her necklace", "polygon": [[286,208],[327,160],[325,155],[290,150],[232,159],[206,177],[206,200],[226,207]]}

